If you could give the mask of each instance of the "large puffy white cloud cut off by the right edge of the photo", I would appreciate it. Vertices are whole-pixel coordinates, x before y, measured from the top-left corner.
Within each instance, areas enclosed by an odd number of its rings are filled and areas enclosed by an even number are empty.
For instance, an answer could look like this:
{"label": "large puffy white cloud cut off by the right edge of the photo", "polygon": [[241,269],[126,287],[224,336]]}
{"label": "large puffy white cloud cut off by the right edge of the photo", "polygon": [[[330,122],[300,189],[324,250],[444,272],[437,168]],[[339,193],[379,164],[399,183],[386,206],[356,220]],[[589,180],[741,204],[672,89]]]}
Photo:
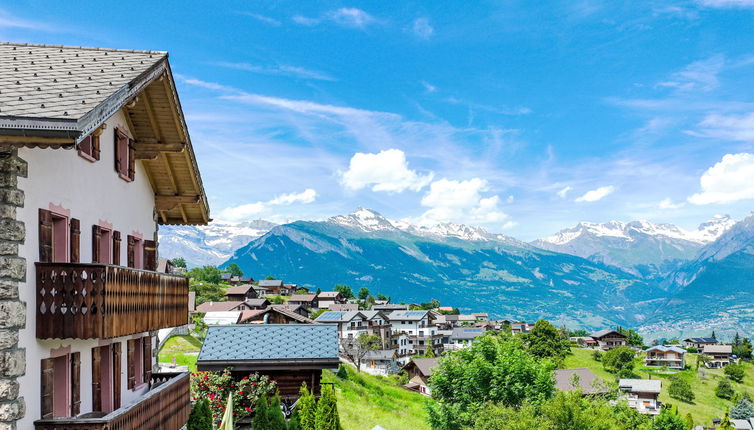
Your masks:
{"label": "large puffy white cloud cut off by the right edge of the photo", "polygon": [[754,154],[726,154],[699,180],[702,191],[688,198],[695,205],[754,199]]}

